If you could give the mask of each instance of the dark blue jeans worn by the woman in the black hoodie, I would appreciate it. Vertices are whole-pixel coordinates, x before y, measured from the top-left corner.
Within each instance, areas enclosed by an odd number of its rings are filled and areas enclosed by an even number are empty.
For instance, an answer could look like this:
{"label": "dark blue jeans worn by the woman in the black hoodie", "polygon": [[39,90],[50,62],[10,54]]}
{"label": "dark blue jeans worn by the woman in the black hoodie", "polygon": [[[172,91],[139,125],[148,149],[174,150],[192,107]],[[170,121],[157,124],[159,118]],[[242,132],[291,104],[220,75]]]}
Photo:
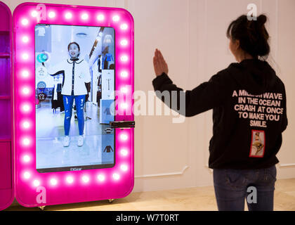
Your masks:
{"label": "dark blue jeans worn by the woman in the black hoodie", "polygon": [[273,211],[277,169],[214,169],[214,190],[219,211]]}

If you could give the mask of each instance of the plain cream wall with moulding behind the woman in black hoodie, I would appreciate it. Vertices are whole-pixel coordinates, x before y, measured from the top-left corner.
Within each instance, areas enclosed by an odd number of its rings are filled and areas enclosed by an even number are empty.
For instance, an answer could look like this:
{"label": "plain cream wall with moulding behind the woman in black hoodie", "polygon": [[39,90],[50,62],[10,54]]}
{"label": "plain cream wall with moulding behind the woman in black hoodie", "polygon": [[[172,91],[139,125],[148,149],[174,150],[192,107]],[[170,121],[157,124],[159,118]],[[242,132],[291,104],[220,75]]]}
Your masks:
{"label": "plain cream wall with moulding behind the woman in black hoodie", "polygon": [[[13,9],[21,0],[4,0]],[[266,13],[270,32],[270,64],[287,89],[289,127],[278,154],[278,179],[295,177],[295,1],[294,0],[63,0],[55,4],[126,8],[135,20],[135,89],[152,90],[155,48],[164,53],[169,76],[183,89],[209,80],[234,62],[225,31],[247,13],[247,4]],[[138,116],[135,132],[134,191],[212,185],[208,169],[211,111],[172,124],[171,117]]]}

